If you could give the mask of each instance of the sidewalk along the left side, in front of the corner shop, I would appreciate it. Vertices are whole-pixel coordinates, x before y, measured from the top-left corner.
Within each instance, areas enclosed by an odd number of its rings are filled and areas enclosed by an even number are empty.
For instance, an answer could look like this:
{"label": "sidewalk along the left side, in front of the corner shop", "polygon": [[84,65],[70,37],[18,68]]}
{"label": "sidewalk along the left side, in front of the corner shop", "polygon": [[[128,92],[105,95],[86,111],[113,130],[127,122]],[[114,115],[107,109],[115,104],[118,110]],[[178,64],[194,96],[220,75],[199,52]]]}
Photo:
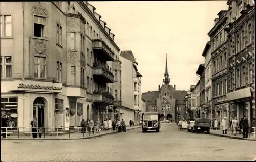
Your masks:
{"label": "sidewalk along the left side, in front of the corner shop", "polygon": [[[137,128],[141,128],[141,126],[133,126],[133,127],[126,127],[126,130],[133,130],[133,129],[137,129]],[[84,134],[83,137],[83,133],[70,133],[70,134],[58,134],[58,137],[55,136],[42,136],[41,139],[39,138],[39,136],[37,135],[36,139],[31,138],[30,136],[19,136],[17,134],[11,134],[10,136],[8,136],[7,138],[2,138],[1,140],[76,140],[76,139],[91,139],[91,138],[95,138],[95,137],[101,137],[104,135],[108,135],[108,134],[114,134],[114,133],[118,133],[118,131],[116,130],[101,130],[99,133],[91,133],[90,136],[88,133]],[[120,133],[125,133],[125,132],[120,132]]]}

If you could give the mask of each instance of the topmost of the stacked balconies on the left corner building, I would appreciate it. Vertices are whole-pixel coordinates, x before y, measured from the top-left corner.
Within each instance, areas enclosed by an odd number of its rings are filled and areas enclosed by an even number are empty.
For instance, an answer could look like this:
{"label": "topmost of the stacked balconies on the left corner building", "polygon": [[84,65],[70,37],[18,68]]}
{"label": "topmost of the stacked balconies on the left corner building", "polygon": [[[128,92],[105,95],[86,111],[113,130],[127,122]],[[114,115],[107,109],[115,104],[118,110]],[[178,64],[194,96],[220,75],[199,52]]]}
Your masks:
{"label": "topmost of the stacked balconies on the left corner building", "polygon": [[93,52],[105,61],[114,61],[114,53],[108,45],[100,39],[93,40]]}

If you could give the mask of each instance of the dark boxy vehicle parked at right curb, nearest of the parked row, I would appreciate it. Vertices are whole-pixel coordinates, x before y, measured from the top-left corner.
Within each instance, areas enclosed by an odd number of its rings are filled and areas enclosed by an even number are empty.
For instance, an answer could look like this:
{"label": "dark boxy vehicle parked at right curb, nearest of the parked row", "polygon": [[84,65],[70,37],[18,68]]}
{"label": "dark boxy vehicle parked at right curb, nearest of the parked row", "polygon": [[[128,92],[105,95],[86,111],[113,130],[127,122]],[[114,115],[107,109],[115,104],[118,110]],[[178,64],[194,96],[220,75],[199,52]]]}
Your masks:
{"label": "dark boxy vehicle parked at right curb, nearest of the parked row", "polygon": [[207,132],[210,133],[210,125],[211,120],[210,119],[203,119],[203,118],[196,118],[195,124],[194,124],[194,132]]}

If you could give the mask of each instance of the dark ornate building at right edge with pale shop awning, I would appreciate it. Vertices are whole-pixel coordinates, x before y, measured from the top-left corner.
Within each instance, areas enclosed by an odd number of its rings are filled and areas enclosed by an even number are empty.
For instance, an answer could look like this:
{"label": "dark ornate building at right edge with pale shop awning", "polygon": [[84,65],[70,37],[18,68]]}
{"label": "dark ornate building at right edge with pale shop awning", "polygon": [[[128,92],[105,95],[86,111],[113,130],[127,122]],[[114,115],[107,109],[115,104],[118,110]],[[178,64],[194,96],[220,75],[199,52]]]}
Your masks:
{"label": "dark ornate building at right edge with pale shop awning", "polygon": [[230,117],[255,117],[255,9],[254,1],[227,1],[228,93]]}

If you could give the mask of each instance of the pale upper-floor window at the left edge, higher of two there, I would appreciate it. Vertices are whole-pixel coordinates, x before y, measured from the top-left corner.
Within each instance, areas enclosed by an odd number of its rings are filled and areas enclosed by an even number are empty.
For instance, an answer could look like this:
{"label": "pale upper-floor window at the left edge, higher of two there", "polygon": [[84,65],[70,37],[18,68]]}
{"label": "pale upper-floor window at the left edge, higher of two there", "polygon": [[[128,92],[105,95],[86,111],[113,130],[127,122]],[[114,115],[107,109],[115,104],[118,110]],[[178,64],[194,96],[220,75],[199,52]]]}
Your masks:
{"label": "pale upper-floor window at the left edge, higher of two there", "polygon": [[12,16],[11,15],[0,16],[0,36],[1,37],[12,36]]}

